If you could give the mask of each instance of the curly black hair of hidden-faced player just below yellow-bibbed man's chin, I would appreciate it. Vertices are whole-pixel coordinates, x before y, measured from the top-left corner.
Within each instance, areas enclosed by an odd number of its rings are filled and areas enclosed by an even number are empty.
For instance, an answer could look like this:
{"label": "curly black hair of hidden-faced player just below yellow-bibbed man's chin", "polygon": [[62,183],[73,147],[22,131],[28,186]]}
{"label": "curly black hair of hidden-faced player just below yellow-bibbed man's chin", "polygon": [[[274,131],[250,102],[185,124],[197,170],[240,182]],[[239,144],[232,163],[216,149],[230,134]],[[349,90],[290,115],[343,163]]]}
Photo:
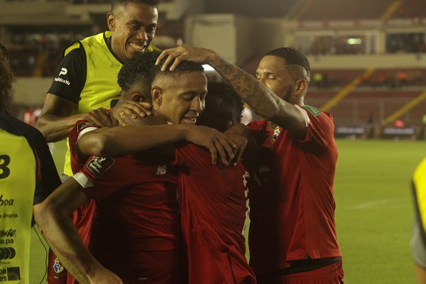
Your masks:
{"label": "curly black hair of hidden-faced player just below yellow-bibbed man's chin", "polygon": [[138,53],[124,63],[117,80],[121,89],[128,91],[136,84],[146,84],[150,87],[150,71],[159,55],[158,51]]}

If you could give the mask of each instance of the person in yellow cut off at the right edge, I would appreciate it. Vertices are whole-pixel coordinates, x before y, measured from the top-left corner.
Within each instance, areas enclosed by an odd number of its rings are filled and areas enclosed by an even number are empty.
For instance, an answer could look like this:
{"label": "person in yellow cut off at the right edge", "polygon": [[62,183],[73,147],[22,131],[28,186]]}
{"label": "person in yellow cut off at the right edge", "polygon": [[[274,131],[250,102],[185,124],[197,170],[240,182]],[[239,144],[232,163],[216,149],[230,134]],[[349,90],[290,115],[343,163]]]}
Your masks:
{"label": "person in yellow cut off at the right edge", "polygon": [[411,251],[415,262],[415,274],[418,284],[426,283],[426,233],[425,233],[425,192],[426,159],[417,166],[413,175],[413,196],[415,219],[411,234]]}

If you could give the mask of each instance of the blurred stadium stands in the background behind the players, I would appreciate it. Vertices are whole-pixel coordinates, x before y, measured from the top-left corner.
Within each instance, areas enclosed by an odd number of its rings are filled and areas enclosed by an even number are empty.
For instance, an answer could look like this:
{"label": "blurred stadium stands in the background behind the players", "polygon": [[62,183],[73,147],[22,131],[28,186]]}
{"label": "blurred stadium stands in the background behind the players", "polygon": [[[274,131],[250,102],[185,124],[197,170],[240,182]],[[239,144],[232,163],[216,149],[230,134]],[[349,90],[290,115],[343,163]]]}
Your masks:
{"label": "blurred stadium stands in the background behind the players", "polygon": [[[236,60],[250,74],[254,74],[266,51],[290,45],[306,53],[312,65],[306,103],[326,107],[337,123],[350,126],[373,121],[391,125],[392,119],[400,119],[406,124],[421,124],[426,113],[425,99],[420,96],[426,87],[424,1],[268,0],[266,6],[256,1],[253,7],[258,9],[251,9],[246,1],[194,0],[189,5],[163,0],[154,44],[164,49],[194,42],[205,43],[204,48],[233,49],[231,53],[244,55],[230,53],[230,60]],[[37,6],[42,2],[43,9],[50,5],[65,7],[57,18],[66,21],[48,25],[48,18],[36,9],[21,12],[21,3]],[[104,30],[109,2],[0,0],[4,6],[0,11],[0,39],[11,51],[11,64],[18,78],[49,80],[66,45]],[[214,20],[214,15],[224,13],[239,16],[218,16]],[[209,16],[208,21],[200,14]],[[199,22],[188,21],[192,15]],[[240,21],[244,17],[246,21]],[[205,28],[214,21],[216,25]],[[203,40],[194,40],[195,30],[190,26],[194,23],[208,32]],[[366,70],[371,74],[364,76]]]}

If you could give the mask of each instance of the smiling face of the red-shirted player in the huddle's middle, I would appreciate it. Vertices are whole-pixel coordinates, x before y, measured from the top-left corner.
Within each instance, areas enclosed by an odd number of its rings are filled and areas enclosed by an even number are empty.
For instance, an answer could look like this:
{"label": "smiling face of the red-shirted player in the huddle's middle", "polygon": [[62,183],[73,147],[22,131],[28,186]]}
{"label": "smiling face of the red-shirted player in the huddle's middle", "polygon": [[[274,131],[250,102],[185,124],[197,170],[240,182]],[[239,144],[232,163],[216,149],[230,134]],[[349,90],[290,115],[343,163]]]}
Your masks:
{"label": "smiling face of the red-shirted player in the huddle's middle", "polygon": [[207,78],[204,72],[160,75],[152,82],[153,109],[171,124],[195,124],[204,109]]}

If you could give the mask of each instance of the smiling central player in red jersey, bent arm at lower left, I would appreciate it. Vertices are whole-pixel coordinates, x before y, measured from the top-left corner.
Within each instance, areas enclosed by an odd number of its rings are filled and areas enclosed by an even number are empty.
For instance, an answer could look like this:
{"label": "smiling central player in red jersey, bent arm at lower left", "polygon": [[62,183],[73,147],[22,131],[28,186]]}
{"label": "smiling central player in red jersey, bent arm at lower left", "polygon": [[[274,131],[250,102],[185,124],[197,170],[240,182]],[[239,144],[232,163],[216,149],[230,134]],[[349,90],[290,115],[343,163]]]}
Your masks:
{"label": "smiling central player in red jersey, bent arm at lower left", "polygon": [[[204,107],[206,93],[207,78],[201,65],[187,62],[176,72],[158,72],[151,89],[154,116],[146,119],[163,119],[166,127],[166,121],[182,124],[184,129],[197,127],[193,124]],[[124,128],[132,130],[131,126],[123,126],[97,132]],[[84,147],[78,148],[84,155]],[[112,271],[123,283],[180,283],[177,187],[170,158],[165,159],[158,151],[116,158],[99,153],[43,202],[35,217],[45,238],[59,256],[64,256],[65,266],[68,264],[80,282],[88,278],[90,283],[104,283],[102,280]],[[90,198],[97,202],[92,254],[68,219],[70,212]],[[111,280],[118,278],[111,276]]]}

